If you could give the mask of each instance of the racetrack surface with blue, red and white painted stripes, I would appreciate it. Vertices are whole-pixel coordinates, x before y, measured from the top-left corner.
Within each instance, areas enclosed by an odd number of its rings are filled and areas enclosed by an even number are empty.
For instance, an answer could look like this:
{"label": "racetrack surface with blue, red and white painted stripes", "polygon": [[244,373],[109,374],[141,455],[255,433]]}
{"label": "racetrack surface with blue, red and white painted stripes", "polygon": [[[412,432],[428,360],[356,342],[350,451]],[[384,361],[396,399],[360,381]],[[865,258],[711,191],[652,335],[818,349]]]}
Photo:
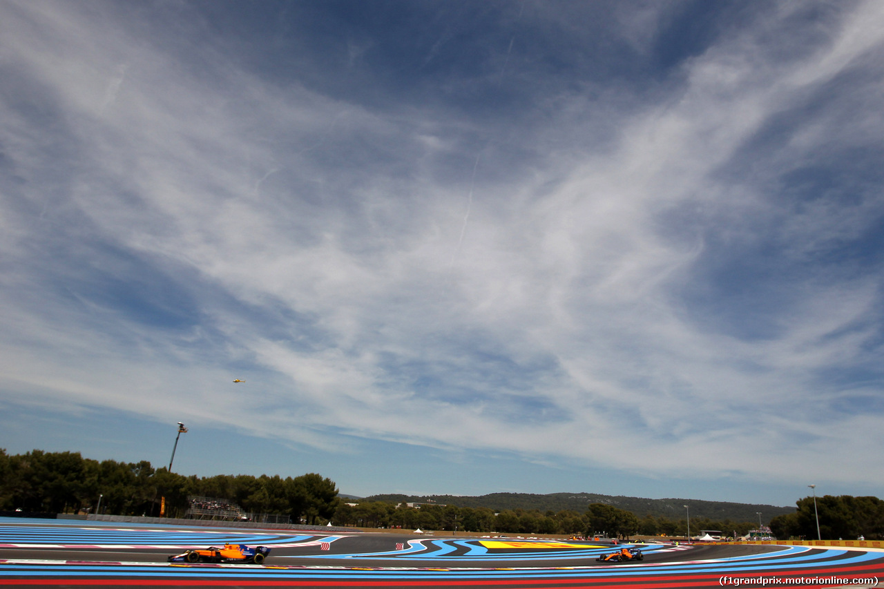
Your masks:
{"label": "racetrack surface with blue, red and white painted stripes", "polygon": [[[0,518],[3,586],[225,587],[709,587],[788,585],[828,575],[814,586],[875,586],[884,552],[759,545],[649,545],[641,562],[597,562],[619,547],[599,542],[298,533],[200,526],[92,526]],[[186,548],[225,542],[271,547],[263,565],[169,563]],[[850,579],[873,579],[867,585]],[[729,580],[728,580],[729,579]],[[736,580],[735,580],[736,579]],[[841,583],[841,580],[845,583]],[[808,585],[808,583],[802,583]]]}

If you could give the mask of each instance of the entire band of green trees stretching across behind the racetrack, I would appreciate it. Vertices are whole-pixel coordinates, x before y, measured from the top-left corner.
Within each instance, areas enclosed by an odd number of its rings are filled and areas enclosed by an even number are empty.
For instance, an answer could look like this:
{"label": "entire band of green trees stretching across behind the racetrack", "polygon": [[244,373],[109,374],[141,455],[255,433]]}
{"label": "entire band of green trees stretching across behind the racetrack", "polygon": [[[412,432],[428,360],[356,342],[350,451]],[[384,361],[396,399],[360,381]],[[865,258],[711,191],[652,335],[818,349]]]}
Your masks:
{"label": "entire band of green trees stretching across behind the racetrack", "polygon": [[[629,538],[676,536],[688,533],[686,517],[668,517],[620,509],[592,502],[584,509],[492,509],[443,504],[408,507],[404,501],[360,500],[348,504],[339,498],[329,478],[316,473],[281,478],[278,475],[217,475],[186,477],[147,461],[98,462],[79,452],[43,452],[7,455],[0,448],[0,510],[78,513],[86,511],[121,516],[181,517],[190,508],[188,497],[231,501],[252,513],[288,515],[293,523],[450,532],[605,535]],[[825,495],[796,502],[794,513],[774,516],[773,535],[779,539],[884,539],[884,501],[877,497]],[[585,503],[584,503],[585,505]],[[691,516],[690,532],[717,530],[725,536],[743,536],[756,522]]]}

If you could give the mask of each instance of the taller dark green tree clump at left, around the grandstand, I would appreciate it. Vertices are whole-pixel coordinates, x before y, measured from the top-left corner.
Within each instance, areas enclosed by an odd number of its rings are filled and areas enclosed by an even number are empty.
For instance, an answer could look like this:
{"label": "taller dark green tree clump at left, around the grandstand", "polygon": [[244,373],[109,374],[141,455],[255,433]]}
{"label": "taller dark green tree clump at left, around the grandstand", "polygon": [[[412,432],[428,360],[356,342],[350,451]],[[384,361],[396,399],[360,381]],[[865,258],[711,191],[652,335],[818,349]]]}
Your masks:
{"label": "taller dark green tree clump at left, around the grandstand", "polygon": [[248,512],[308,524],[328,521],[340,501],[335,483],[316,473],[197,478],[155,469],[148,461],[98,462],[79,452],[42,450],[7,455],[0,448],[0,510],[159,516],[164,506],[165,516],[181,517],[191,496],[224,498]]}

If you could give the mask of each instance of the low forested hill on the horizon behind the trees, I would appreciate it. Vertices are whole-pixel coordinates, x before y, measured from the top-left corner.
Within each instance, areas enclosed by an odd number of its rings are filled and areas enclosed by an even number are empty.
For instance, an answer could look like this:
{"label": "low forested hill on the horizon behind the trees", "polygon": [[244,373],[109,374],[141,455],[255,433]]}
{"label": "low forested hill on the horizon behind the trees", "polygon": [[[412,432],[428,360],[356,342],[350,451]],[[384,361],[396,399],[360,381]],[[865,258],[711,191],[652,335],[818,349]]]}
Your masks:
{"label": "low forested hill on the horizon behind the trees", "polygon": [[504,509],[539,509],[540,511],[561,511],[570,509],[577,513],[586,511],[590,503],[606,503],[619,509],[626,509],[643,516],[665,516],[678,519],[687,515],[685,505],[690,506],[690,516],[708,517],[716,521],[730,519],[735,522],[757,522],[758,512],[762,520],[769,522],[773,516],[781,516],[796,511],[795,507],[775,507],[751,503],[730,503],[727,501],[699,501],[696,499],[642,499],[599,495],[597,493],[490,493],[478,497],[461,495],[401,495],[386,494],[365,497],[362,501],[385,501],[387,503],[429,503],[436,502],[456,507],[489,508],[496,512]]}

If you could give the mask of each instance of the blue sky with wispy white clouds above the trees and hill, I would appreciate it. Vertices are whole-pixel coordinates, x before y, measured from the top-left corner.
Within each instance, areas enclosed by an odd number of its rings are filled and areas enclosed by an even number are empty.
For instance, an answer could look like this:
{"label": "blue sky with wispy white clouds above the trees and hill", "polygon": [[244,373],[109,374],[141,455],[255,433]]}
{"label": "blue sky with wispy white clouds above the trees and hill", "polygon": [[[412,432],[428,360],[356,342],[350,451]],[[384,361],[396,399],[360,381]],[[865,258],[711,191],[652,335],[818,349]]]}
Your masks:
{"label": "blue sky with wispy white clouds above the trees and hill", "polygon": [[879,2],[8,0],[0,447],[880,496],[882,73]]}

